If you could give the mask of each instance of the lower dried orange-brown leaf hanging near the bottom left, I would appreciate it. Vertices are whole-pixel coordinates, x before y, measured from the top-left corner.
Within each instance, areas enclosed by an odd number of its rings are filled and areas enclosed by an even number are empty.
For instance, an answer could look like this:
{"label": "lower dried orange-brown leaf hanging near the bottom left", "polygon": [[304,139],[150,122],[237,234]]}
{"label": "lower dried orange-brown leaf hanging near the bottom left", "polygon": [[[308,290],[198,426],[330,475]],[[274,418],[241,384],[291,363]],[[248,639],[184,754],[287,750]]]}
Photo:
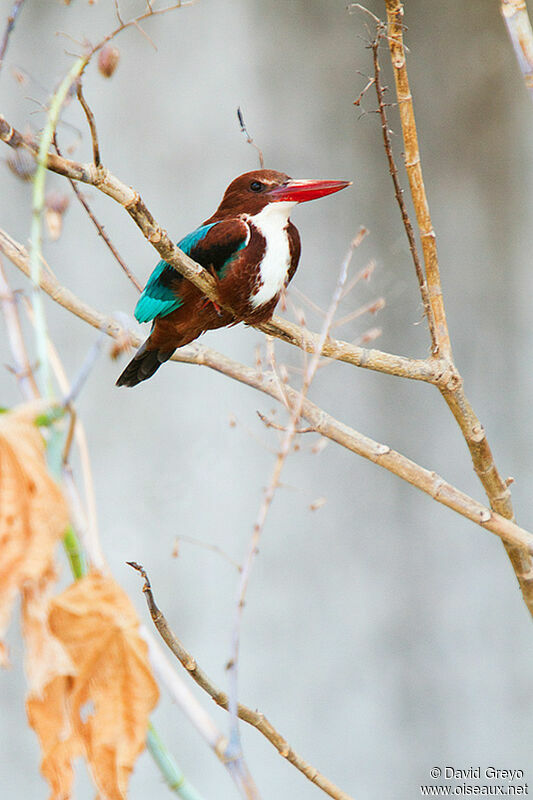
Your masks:
{"label": "lower dried orange-brown leaf hanging near the bottom left", "polygon": [[[46,764],[46,777],[54,786],[54,775],[65,768],[60,742],[65,730],[67,739],[74,731],[70,751],[75,752],[77,743],[82,742],[102,796],[122,800],[158,699],[135,610],[112,578],[92,573],[51,601],[49,624],[68,653],[75,675],[62,684],[70,727],[57,728],[55,739],[46,742],[46,731],[43,735],[38,731],[43,770]],[[57,678],[47,688],[51,715],[59,722],[61,687]]]}

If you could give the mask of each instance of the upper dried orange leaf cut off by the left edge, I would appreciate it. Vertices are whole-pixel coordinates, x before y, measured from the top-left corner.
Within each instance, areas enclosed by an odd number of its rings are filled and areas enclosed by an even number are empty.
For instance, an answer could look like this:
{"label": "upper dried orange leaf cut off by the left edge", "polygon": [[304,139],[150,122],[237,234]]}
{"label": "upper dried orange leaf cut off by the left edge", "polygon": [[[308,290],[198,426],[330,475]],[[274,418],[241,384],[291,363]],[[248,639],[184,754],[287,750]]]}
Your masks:
{"label": "upper dried orange leaf cut off by the left edge", "polygon": [[[32,406],[0,415],[0,637],[17,592],[52,571],[55,546],[68,525],[34,417]],[[1,643],[0,648],[5,663]]]}

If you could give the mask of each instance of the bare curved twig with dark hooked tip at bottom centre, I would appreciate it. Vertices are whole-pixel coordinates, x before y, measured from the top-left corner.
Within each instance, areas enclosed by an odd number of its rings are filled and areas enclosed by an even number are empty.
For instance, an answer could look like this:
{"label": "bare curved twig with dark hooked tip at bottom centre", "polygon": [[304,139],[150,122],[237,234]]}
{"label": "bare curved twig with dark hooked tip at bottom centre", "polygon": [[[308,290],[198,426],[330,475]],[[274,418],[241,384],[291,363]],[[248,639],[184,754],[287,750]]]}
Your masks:
{"label": "bare curved twig with dark hooked tip at bottom centre", "polygon": [[[227,711],[229,705],[228,695],[219,689],[218,686],[216,686],[208,677],[208,675],[206,675],[203,669],[198,666],[196,659],[185,649],[181,641],[170,628],[163,613],[156,605],[150,579],[148,578],[144,568],[140,564],[136,564],[133,561],[129,561],[128,564],[133,567],[133,569],[136,569],[144,579],[143,592],[146,597],[150,616],[152,617],[154,625],[159,631],[161,638],[167,647],[185,667],[191,678],[196,681],[198,686],[207,692],[207,694],[218,706]],[[322,789],[322,791],[326,792],[326,794],[329,794],[330,797],[336,798],[336,800],[352,800],[349,795],[342,791],[342,789],[339,789],[337,786],[335,786],[334,783],[329,781],[315,767],[311,766],[311,764],[308,764],[301,756],[295,753],[290,747],[289,743],[281,736],[280,733],[278,733],[278,731],[268,721],[264,714],[262,714],[260,711],[253,711],[251,708],[242,705],[242,703],[239,703],[237,711],[240,719],[242,719],[244,722],[247,722],[249,725],[252,725],[254,728],[257,728],[257,730],[262,733],[263,736],[265,736],[268,741],[271,742],[271,744],[274,745],[276,750],[281,756],[283,756],[283,758],[286,758],[289,763],[300,770],[300,772],[302,772],[307,778],[309,778],[310,781]]]}

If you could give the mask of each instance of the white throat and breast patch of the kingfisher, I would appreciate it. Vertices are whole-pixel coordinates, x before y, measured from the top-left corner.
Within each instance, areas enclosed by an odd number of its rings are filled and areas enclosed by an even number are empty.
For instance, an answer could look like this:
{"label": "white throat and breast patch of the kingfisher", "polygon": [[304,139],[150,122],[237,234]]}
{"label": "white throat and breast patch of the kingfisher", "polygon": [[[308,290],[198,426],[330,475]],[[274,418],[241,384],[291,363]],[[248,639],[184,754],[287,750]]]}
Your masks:
{"label": "white throat and breast patch of the kingfisher", "polygon": [[261,262],[261,287],[257,294],[250,298],[254,308],[272,300],[285,283],[291,262],[287,222],[295,205],[297,203],[269,203],[259,214],[248,217],[248,221],[265,238],[265,255]]}

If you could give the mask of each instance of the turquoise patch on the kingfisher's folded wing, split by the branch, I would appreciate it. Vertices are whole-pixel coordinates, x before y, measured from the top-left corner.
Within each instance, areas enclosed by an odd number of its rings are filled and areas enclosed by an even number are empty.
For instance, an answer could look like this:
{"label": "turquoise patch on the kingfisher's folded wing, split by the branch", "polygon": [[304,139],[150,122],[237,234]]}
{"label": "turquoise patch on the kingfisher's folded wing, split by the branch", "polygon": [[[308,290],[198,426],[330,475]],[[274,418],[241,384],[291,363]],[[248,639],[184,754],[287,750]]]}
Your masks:
{"label": "turquoise patch on the kingfisher's folded wing, split by the branch", "polygon": [[[189,255],[213,225],[216,225],[216,222],[210,225],[202,225],[192,233],[187,234],[178,242],[178,247]],[[135,306],[135,319],[138,322],[150,322],[156,317],[166,317],[171,311],[183,305],[181,297],[176,295],[169,285],[169,279],[173,277],[173,273],[174,270],[169,267],[166,261],[159,262],[150,275],[148,283]]]}

